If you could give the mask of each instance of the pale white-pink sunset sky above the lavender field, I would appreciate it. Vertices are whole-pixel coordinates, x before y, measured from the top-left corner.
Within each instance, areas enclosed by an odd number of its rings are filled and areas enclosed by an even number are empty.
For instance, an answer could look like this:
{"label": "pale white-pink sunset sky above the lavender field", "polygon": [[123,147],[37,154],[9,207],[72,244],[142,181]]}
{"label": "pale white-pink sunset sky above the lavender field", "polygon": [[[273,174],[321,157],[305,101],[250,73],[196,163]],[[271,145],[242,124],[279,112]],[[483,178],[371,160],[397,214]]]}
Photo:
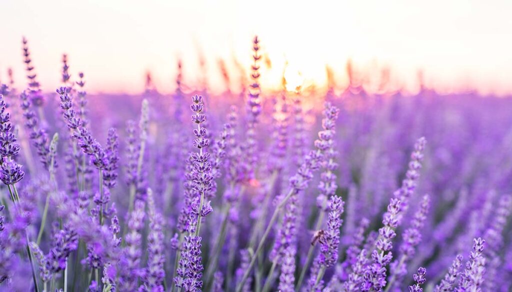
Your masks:
{"label": "pale white-pink sunset sky above the lavender field", "polygon": [[147,70],[160,91],[171,92],[179,57],[194,87],[202,78],[200,54],[213,91],[224,88],[220,58],[236,89],[233,60],[249,68],[258,34],[272,62],[262,72],[267,87],[278,86],[288,61],[289,70],[318,86],[325,86],[328,64],[341,88],[351,58],[356,70],[370,72],[368,80],[390,68],[393,86],[408,91],[418,87],[422,69],[426,85],[441,92],[504,95],[512,93],[510,15],[510,0],[0,0],[0,80],[12,67],[17,85],[26,84],[26,36],[46,91],[59,85],[62,53],[72,76],[86,74],[90,92],[141,92]]}

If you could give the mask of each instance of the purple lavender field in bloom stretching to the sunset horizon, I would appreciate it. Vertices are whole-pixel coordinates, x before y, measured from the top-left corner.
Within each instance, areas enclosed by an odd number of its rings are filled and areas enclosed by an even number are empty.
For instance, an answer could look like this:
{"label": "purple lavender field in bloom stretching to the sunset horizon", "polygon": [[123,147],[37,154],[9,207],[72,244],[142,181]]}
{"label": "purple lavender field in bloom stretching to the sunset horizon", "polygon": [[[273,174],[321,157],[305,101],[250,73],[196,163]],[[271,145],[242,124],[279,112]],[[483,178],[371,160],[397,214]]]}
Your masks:
{"label": "purple lavender field in bloom stretching to the sunset horizon", "polygon": [[0,291],[512,291],[510,97],[265,91],[257,37],[240,92],[88,95],[29,44],[0,91]]}

